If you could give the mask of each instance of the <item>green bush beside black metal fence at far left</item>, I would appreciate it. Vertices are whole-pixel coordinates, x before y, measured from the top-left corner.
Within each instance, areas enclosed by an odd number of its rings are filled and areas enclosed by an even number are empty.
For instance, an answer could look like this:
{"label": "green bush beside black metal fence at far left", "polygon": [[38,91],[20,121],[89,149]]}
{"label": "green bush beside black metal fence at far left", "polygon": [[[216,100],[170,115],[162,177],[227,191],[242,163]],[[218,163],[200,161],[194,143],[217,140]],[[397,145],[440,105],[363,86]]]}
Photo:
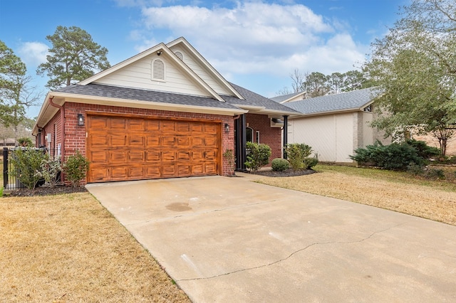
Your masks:
{"label": "green bush beside black metal fence at far left", "polygon": [[28,189],[35,189],[42,178],[36,174],[41,171],[41,161],[46,159],[43,151],[31,148],[15,149],[11,154],[11,176],[15,176]]}

